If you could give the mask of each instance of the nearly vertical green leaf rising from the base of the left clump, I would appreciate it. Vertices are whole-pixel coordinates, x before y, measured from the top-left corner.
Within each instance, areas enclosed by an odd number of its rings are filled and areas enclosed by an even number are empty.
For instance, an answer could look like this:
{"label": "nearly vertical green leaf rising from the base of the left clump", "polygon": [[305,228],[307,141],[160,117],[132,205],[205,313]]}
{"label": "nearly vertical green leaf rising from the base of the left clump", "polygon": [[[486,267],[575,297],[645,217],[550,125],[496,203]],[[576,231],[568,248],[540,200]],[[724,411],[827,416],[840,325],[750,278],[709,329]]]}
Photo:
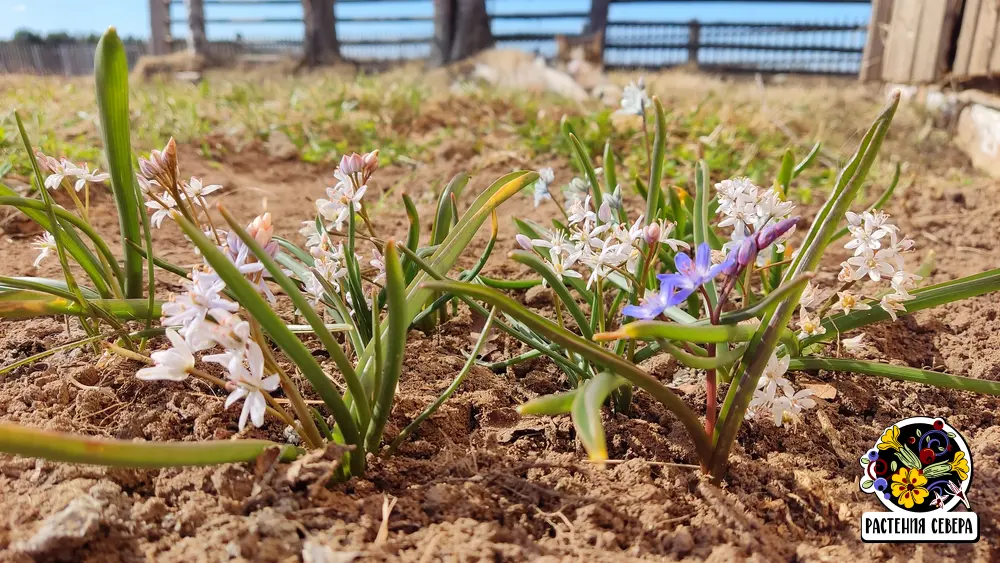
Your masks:
{"label": "nearly vertical green leaf rising from the base of the left clump", "polygon": [[[385,423],[389,420],[389,413],[392,412],[396,386],[399,385],[399,374],[403,369],[403,356],[406,354],[406,333],[410,328],[410,318],[406,314],[406,278],[394,240],[390,239],[385,243],[384,257],[388,330],[385,366],[382,369],[381,385],[376,390],[371,424],[368,426],[366,437],[368,451],[372,452],[378,450],[382,442],[382,433],[385,431]],[[379,328],[376,327],[376,330]]]}

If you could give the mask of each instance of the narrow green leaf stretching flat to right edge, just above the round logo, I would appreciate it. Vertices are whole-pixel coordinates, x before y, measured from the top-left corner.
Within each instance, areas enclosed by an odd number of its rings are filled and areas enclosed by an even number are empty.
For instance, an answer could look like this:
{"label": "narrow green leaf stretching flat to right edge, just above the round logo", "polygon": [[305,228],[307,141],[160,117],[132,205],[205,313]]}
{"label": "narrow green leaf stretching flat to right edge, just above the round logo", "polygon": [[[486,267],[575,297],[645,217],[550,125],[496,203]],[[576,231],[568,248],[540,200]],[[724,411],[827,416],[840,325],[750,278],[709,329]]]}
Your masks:
{"label": "narrow green leaf stretching flat to right edge, just above the round logo", "polygon": [[863,373],[866,375],[877,375],[899,381],[910,381],[913,383],[924,383],[934,387],[945,389],[958,389],[960,391],[972,391],[986,395],[1000,395],[1000,381],[990,381],[988,379],[974,379],[939,371],[911,368],[906,366],[894,366],[879,362],[867,362],[863,360],[850,360],[844,358],[792,358],[788,362],[788,369],[793,370],[816,370],[845,371]]}

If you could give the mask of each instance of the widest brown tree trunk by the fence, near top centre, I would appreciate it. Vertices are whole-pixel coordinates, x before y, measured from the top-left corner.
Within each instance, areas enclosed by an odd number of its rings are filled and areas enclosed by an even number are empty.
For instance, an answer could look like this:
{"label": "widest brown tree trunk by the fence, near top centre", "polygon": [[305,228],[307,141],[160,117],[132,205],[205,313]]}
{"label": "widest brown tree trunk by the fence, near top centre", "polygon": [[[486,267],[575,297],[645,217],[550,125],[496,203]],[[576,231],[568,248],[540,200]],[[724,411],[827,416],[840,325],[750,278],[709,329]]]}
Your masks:
{"label": "widest brown tree trunk by the fence, near top centre", "polygon": [[431,64],[460,61],[493,44],[486,0],[434,0]]}

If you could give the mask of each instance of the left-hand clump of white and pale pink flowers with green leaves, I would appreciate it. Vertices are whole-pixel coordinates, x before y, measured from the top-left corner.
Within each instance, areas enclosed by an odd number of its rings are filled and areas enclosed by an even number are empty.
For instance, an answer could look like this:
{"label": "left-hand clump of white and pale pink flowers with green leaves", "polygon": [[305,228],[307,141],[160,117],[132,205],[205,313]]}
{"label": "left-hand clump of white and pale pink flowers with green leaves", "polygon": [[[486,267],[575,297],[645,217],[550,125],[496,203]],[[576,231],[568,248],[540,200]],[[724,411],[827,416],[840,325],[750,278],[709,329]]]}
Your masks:
{"label": "left-hand clump of white and pale pink flowers with green leaves", "polygon": [[[212,194],[221,186],[185,179],[173,139],[132,166],[128,111],[121,105],[128,99],[123,47],[113,30],[101,45],[98,99],[111,172],[101,174],[39,154],[37,162],[42,165],[36,162],[34,168],[39,199],[8,195],[4,188],[0,204],[22,210],[44,229],[36,244],[38,260],[57,257],[64,279],[0,279],[0,317],[75,316],[86,337],[56,350],[89,344],[100,352],[103,347],[109,355],[146,364],[135,376],[147,384],[201,380],[228,392],[224,409],[232,412],[241,431],[275,420],[286,426],[295,444],[267,440],[137,444],[0,424],[0,451],[58,461],[163,467],[249,461],[268,448],[278,448],[287,460],[337,444],[346,446],[347,453],[335,477],[362,475],[368,453],[381,452],[383,445],[389,446],[386,452],[395,450],[474,365],[470,360],[452,388],[391,444],[383,444],[407,332],[414,323],[433,326],[445,318],[454,300],[423,282],[447,275],[492,217],[483,255],[458,277],[477,279],[496,241],[496,207],[533,184],[538,175],[507,174],[464,212],[457,195],[469,178],[457,176],[441,194],[429,244],[422,244],[419,216],[404,195],[411,223],[406,241],[400,243],[382,235],[365,205],[368,182],[378,170],[378,151],[346,155],[334,171],[334,185],[326,197],[315,201],[315,218],[305,222],[300,246],[275,234],[269,213],[244,222],[213,205]],[[107,68],[108,61],[113,68]],[[34,156],[23,126],[21,133]],[[88,219],[89,190],[108,178],[122,216],[120,235],[126,250],[122,260],[110,253]],[[75,212],[56,205],[51,190],[69,191]],[[74,195],[80,190],[82,200]],[[132,221],[127,223],[126,216]],[[199,256],[197,266],[184,269],[156,255],[152,231],[165,228],[183,231]],[[88,284],[77,282],[71,260],[87,274]],[[154,267],[182,277],[184,291],[155,300]],[[279,300],[290,301],[305,324],[281,318],[274,311]],[[491,315],[477,349],[492,319]],[[138,327],[132,323],[145,326],[135,330]],[[298,336],[304,332],[315,335],[335,370],[321,366]],[[150,351],[145,339],[158,334],[165,334],[169,345]],[[216,375],[220,371],[221,377]],[[308,389],[299,388],[295,372],[308,382]],[[319,407],[307,402],[307,391],[319,398]],[[278,394],[283,400],[276,398]]]}

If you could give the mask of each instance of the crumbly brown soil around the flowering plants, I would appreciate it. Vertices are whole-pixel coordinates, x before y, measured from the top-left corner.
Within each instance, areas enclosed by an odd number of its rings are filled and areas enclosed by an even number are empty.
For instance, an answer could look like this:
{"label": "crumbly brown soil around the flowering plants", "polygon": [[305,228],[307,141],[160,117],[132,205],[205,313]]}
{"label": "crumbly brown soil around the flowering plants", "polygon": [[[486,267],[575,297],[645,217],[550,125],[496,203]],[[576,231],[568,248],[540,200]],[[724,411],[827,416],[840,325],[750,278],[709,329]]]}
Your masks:
{"label": "crumbly brown soil around the flowering plants", "polygon": [[[653,86],[656,89],[656,85]],[[662,90],[666,90],[664,86]],[[795,121],[809,116],[788,109],[801,88],[771,91],[769,104]],[[826,88],[813,100],[817,111],[848,100],[827,123],[835,154],[846,155],[850,138],[876,107],[869,93]],[[817,101],[817,100],[822,100]],[[860,101],[859,101],[860,100]],[[862,103],[863,102],[863,103]],[[826,104],[825,106],[823,104]],[[816,106],[813,106],[816,108]],[[843,106],[840,106],[843,107]],[[833,110],[831,110],[833,111]],[[921,253],[936,253],[930,282],[985,270],[1000,261],[1000,204],[994,182],[972,170],[946,140],[919,138],[921,122],[901,112],[886,155],[908,163],[890,212]],[[766,121],[762,116],[760,119]],[[845,124],[845,122],[849,124]],[[839,127],[838,125],[839,124]],[[836,143],[843,143],[838,145]],[[398,194],[419,200],[434,182],[461,170],[475,171],[463,200],[513,168],[542,162],[476,156],[461,145],[443,151],[433,165],[388,167],[378,174],[370,201],[392,194],[376,222],[403,234]],[[568,163],[551,164],[568,174]],[[265,205],[276,232],[291,234],[322,193],[329,170],[272,161],[246,148],[224,162],[182,154],[183,171],[227,188],[221,200],[249,218]],[[419,186],[420,191],[414,191]],[[426,205],[426,204],[425,204]],[[511,217],[543,220],[530,196],[501,209],[502,240],[513,246]],[[98,198],[96,224],[114,232],[117,218],[107,197]],[[48,275],[49,262],[32,268],[27,225],[11,220],[0,245],[7,275]],[[172,227],[157,233],[158,248],[175,262],[190,263]],[[469,256],[482,248],[473,243]],[[496,276],[523,272],[497,252],[488,266]],[[842,259],[831,252],[827,271]],[[163,276],[159,289],[178,286]],[[521,296],[544,308],[542,296]],[[539,301],[535,301],[538,299]],[[971,377],[1000,379],[1000,302],[984,296],[872,327],[863,357],[915,367],[941,367]],[[410,333],[391,436],[451,382],[472,345],[473,319],[464,309],[439,331]],[[68,340],[55,320],[0,323],[0,365]],[[492,342],[490,359],[522,347],[505,337]],[[647,366],[669,379],[674,366]],[[0,376],[0,419],[32,426],[115,438],[146,440],[226,439],[236,416],[222,397],[195,383],[148,384],[133,375],[137,365],[96,362],[89,351],[57,354]],[[549,363],[534,362],[493,374],[473,369],[455,397],[393,458],[371,458],[364,479],[330,488],[315,486],[322,474],[309,467],[293,476],[288,466],[136,471],[49,463],[0,456],[0,560],[30,561],[623,561],[623,560],[993,560],[1000,517],[1000,400],[970,393],[891,382],[844,373],[795,374],[799,385],[821,383],[836,394],[820,401],[801,424],[780,430],[748,423],[732,466],[716,487],[688,464],[694,461],[683,429],[661,406],[638,394],[632,416],[605,415],[613,459],[608,467],[585,461],[567,417],[520,418],[525,399],[565,388]],[[680,387],[703,409],[699,385]],[[857,457],[882,428],[913,415],[947,417],[969,441],[976,477],[971,502],[982,523],[973,545],[872,545],[859,537],[864,511],[881,510],[860,493]],[[269,423],[246,437],[281,439]],[[310,479],[310,477],[312,479]],[[391,507],[391,510],[388,509]],[[39,532],[47,530],[44,541]],[[381,531],[380,531],[381,529]]]}

